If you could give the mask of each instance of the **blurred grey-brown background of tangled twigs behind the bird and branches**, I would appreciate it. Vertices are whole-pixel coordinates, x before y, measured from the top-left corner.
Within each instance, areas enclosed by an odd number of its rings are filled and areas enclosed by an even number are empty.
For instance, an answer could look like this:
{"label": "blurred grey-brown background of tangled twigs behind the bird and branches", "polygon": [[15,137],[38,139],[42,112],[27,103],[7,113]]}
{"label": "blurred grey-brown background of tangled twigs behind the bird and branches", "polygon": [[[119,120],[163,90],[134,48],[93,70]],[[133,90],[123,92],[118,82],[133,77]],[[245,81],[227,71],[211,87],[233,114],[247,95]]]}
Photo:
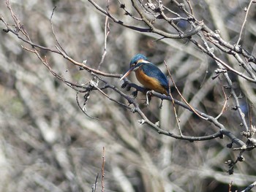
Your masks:
{"label": "blurred grey-brown background of tangled twigs behind the bird and branches", "polygon": [[[130,12],[128,0],[122,1]],[[54,48],[56,40],[50,26],[64,50],[75,61],[87,60],[88,66],[97,69],[104,48],[105,16],[89,1],[45,0],[10,1],[31,40],[39,45]],[[106,7],[106,1],[97,1]],[[172,7],[171,1],[163,1]],[[186,4],[186,2],[184,2]],[[244,22],[244,7],[249,1],[191,1],[197,20],[203,20],[213,31],[219,29],[227,42],[237,42]],[[4,0],[0,1],[0,15],[13,24]],[[255,55],[256,12],[255,4],[249,12],[241,37],[241,45]],[[178,11],[178,10],[177,10]],[[129,25],[143,26],[124,15],[118,1],[110,1],[110,12]],[[166,23],[159,28],[176,32]],[[187,23],[178,26],[189,31]],[[13,34],[4,33],[0,23],[0,191],[96,191],[102,190],[102,155],[105,147],[104,191],[232,191],[244,189],[256,180],[256,161],[253,151],[244,153],[245,162],[238,163],[233,175],[227,174],[225,161],[236,159],[238,152],[226,145],[230,139],[213,139],[204,142],[187,142],[157,134],[146,125],[140,126],[140,116],[110,101],[97,91],[91,93],[86,105],[89,118],[80,111],[76,91],[57,80],[42,65],[36,55],[23,50],[29,47]],[[216,117],[225,102],[222,78],[214,80],[217,64],[187,39],[159,39],[154,34],[143,34],[110,21],[107,54],[102,72],[124,74],[129,61],[136,53],[143,53],[167,74],[167,62],[178,89],[193,107]],[[41,50],[54,72],[70,82],[85,84],[93,77],[86,70],[70,64],[60,55]],[[216,50],[223,61],[233,66],[233,58]],[[238,66],[233,66],[239,69]],[[237,68],[238,67],[238,68]],[[121,89],[117,78],[103,77]],[[248,119],[248,106],[255,104],[255,84],[230,74],[236,93]],[[129,80],[138,83],[135,75]],[[138,84],[139,85],[139,84]],[[132,93],[121,89],[125,93]],[[105,91],[118,101],[124,99],[111,90]],[[228,96],[227,91],[227,96]],[[181,100],[173,89],[173,96]],[[80,95],[83,102],[83,96]],[[163,129],[178,133],[172,104],[153,98],[148,107],[145,96],[138,102],[152,122],[160,122]],[[243,139],[244,131],[238,113],[232,110],[233,99],[227,101],[224,114],[219,118],[226,128]],[[184,135],[203,136],[218,131],[207,121],[177,106]],[[253,112],[255,110],[253,109]],[[255,122],[254,115],[252,123]],[[97,118],[97,119],[95,119]],[[252,189],[256,191],[256,189]]]}

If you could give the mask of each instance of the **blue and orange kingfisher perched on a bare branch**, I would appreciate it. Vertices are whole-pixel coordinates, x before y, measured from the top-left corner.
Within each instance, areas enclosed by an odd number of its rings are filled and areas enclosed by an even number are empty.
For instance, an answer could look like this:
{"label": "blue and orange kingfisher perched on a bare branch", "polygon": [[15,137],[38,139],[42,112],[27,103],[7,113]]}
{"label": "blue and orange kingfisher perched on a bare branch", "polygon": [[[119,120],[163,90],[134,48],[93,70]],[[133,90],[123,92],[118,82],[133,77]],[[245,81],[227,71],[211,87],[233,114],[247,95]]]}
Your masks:
{"label": "blue and orange kingfisher perched on a bare branch", "polygon": [[127,77],[130,72],[135,72],[136,78],[145,88],[169,95],[167,77],[157,66],[148,61],[145,55],[135,55],[129,63],[129,70],[120,80]]}

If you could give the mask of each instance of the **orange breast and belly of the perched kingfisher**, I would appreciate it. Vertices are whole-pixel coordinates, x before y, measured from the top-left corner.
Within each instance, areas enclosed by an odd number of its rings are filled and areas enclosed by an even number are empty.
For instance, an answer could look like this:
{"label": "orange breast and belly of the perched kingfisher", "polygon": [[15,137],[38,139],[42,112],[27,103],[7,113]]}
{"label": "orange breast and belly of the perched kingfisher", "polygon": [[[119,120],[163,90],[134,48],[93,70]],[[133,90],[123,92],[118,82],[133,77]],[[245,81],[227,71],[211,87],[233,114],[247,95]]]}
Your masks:
{"label": "orange breast and belly of the perched kingfisher", "polygon": [[135,71],[136,77],[138,81],[145,87],[154,91],[157,91],[158,93],[163,93],[167,95],[167,91],[162,85],[159,83],[157,79],[154,77],[149,77],[146,75],[141,68],[137,69]]}

